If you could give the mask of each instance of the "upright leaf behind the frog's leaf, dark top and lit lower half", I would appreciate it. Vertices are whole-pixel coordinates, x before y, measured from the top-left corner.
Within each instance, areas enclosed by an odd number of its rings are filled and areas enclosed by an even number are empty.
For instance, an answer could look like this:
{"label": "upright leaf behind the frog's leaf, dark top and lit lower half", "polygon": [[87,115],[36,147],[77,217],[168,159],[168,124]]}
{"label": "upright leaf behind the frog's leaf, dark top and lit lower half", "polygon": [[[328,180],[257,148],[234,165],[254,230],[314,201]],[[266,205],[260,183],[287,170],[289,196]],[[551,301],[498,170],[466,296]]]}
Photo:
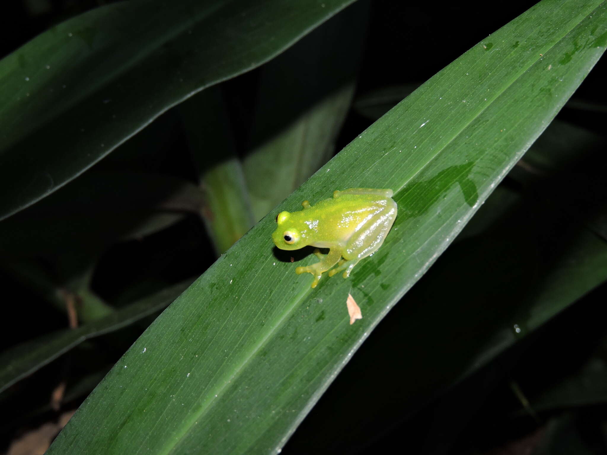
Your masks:
{"label": "upright leaf behind the frog's leaf, dark top and lit lower half", "polygon": [[333,156],[368,9],[367,1],[357,2],[260,70],[251,150],[243,162],[255,221]]}

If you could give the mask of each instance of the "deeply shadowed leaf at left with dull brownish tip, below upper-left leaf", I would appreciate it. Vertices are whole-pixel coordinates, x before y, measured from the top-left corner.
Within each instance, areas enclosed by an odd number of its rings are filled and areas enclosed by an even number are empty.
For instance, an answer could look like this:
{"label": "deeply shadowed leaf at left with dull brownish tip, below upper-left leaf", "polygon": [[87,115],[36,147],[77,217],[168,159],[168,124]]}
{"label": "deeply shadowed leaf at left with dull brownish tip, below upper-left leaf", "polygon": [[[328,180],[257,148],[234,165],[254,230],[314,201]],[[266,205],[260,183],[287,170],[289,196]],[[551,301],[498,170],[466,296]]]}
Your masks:
{"label": "deeply shadowed leaf at left with dull brownish tip, below upper-left leaf", "polygon": [[39,204],[2,221],[0,254],[4,258],[64,255],[90,248],[90,244],[103,251],[117,238],[149,235],[185,213],[198,213],[201,206],[198,189],[181,178],[88,172]]}

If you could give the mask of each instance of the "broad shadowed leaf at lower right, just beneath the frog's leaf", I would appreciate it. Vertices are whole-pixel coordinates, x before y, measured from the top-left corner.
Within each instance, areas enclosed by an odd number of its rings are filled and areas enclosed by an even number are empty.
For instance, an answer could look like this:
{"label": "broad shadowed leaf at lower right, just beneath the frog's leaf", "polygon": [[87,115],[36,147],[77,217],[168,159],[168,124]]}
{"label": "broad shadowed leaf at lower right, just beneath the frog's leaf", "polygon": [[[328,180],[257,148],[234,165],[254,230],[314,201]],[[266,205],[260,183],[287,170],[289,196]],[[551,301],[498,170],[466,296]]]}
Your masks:
{"label": "broad shadowed leaf at lower right, just beneath the frog's leaf", "polygon": [[[575,155],[575,149],[571,152]],[[513,194],[516,202],[508,203]],[[350,453],[380,439],[395,422],[415,420],[408,414],[427,405],[437,391],[483,371],[496,353],[607,280],[607,243],[583,220],[569,217],[567,207],[552,207],[550,196],[548,191],[541,196],[535,191],[517,197],[500,185],[457,241],[407,293],[404,305],[392,310],[337,377],[296,431],[288,453],[316,453],[331,445]],[[479,227],[473,224],[486,226],[495,214],[501,214],[496,223],[470,235],[469,228]],[[547,355],[536,344],[534,362],[537,356]],[[554,343],[547,342],[544,348],[561,352]],[[529,376],[523,368],[510,371],[504,366],[507,363],[503,357],[498,359],[494,367],[498,372],[493,374],[518,377],[524,371]],[[486,375],[485,382],[495,382],[486,369],[481,375]],[[600,375],[592,379],[594,389],[587,396],[603,392],[597,387]],[[535,409],[534,400],[532,405]],[[467,411],[475,414],[478,409]],[[463,417],[466,411],[456,413]],[[452,418],[451,413],[441,416]],[[456,423],[447,426],[453,431]],[[405,438],[407,431],[407,423],[393,430]],[[353,439],[351,434],[358,436]]]}

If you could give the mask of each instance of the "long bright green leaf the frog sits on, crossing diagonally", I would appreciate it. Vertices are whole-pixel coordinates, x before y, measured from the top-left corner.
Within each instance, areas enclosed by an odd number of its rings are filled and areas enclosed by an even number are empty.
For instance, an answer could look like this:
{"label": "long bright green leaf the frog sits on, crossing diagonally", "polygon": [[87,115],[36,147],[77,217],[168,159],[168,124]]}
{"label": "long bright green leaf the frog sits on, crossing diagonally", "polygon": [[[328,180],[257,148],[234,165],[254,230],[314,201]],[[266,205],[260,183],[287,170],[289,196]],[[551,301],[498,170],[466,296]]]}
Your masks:
{"label": "long bright green leaf the frog sits on, crossing diagonally", "polygon": [[[49,454],[279,452],[582,82],[605,51],[606,24],[605,2],[544,0],[441,70],[169,306]],[[273,254],[274,216],[347,187],[392,188],[398,218],[350,279],[324,277],[311,289],[289,254]],[[348,293],[364,316],[353,326]],[[552,314],[537,312],[529,329]]]}

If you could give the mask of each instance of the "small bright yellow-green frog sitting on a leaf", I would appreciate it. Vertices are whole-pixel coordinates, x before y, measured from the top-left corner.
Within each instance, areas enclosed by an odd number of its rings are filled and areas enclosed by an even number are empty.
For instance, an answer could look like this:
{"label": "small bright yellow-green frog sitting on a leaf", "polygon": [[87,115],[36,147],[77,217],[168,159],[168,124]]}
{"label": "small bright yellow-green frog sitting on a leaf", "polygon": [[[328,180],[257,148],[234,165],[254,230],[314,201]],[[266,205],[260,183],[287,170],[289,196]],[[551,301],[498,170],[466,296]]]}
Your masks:
{"label": "small bright yellow-green frog sitting on a leaf", "polygon": [[[295,269],[298,275],[308,272],[314,276],[313,288],[322,272],[329,271],[332,277],[343,270],[347,278],[358,261],[384,243],[396,218],[392,194],[390,189],[350,188],[335,191],[333,199],[314,206],[304,201],[302,211],[278,214],[272,240],[278,248],[286,250],[317,247],[314,254],[320,262]],[[318,248],[329,248],[329,252],[321,254]]]}

